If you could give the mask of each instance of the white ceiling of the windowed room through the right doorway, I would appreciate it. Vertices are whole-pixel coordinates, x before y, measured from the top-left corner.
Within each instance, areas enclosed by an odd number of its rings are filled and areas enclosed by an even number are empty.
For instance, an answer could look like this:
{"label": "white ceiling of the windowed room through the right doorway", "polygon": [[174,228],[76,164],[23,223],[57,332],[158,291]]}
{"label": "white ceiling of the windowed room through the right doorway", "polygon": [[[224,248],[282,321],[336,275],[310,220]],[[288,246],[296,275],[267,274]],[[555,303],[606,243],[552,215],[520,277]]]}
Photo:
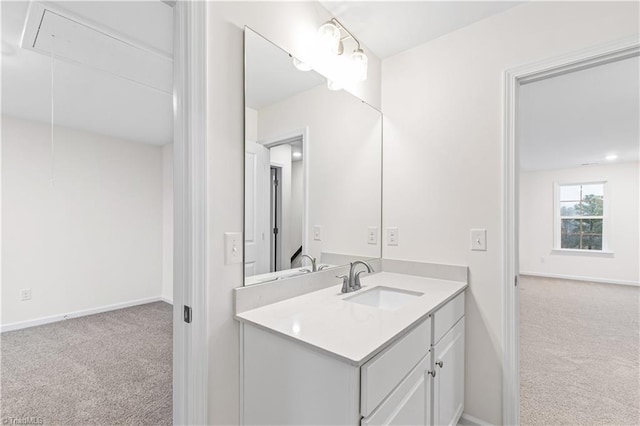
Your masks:
{"label": "white ceiling of the windowed room through the right doorway", "polygon": [[640,59],[525,84],[518,132],[524,171],[638,161]]}

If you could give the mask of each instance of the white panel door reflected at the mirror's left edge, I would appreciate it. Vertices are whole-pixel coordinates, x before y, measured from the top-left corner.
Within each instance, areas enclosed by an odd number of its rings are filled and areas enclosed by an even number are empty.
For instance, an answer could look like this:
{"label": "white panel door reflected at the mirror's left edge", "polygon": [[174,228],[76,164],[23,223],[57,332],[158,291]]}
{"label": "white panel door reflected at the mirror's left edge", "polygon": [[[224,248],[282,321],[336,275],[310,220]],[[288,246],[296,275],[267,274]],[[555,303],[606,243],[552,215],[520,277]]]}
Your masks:
{"label": "white panel door reflected at the mirror's left edge", "polygon": [[244,274],[269,272],[269,150],[247,141],[244,181]]}

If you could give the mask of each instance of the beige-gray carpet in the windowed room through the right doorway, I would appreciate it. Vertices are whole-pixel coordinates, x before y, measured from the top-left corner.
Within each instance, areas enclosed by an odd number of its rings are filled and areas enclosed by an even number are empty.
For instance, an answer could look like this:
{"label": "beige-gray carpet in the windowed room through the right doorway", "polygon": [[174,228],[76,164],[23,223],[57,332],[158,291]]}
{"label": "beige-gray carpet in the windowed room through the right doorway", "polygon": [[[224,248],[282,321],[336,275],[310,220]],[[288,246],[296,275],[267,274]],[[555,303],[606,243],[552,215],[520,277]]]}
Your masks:
{"label": "beige-gray carpet in the windowed room through the right doorway", "polygon": [[521,423],[640,424],[640,288],[520,282]]}

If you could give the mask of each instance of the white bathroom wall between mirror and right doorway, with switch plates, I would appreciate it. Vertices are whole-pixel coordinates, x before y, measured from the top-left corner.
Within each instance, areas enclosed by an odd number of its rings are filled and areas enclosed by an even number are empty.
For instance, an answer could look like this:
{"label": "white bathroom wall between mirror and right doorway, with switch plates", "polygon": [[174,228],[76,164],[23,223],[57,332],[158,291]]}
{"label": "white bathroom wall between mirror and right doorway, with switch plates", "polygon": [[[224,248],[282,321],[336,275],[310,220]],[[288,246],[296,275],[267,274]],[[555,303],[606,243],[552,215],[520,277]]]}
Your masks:
{"label": "white bathroom wall between mirror and right doorway, with switch plates", "polygon": [[637,3],[528,2],[383,61],[383,218],[399,228],[383,254],[469,265],[465,411],[484,421],[502,421],[503,73],[637,33]]}

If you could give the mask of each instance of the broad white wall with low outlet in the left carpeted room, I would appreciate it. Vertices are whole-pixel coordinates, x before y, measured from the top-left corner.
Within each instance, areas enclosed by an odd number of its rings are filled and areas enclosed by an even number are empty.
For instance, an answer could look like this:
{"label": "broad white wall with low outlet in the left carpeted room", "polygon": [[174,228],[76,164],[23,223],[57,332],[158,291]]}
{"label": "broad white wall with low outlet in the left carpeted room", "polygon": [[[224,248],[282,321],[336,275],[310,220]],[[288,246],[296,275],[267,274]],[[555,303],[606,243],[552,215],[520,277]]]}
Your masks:
{"label": "broad white wall with low outlet in the left carpeted room", "polygon": [[[159,297],[162,148],[2,117],[2,324]],[[18,300],[31,288],[32,300]]]}

